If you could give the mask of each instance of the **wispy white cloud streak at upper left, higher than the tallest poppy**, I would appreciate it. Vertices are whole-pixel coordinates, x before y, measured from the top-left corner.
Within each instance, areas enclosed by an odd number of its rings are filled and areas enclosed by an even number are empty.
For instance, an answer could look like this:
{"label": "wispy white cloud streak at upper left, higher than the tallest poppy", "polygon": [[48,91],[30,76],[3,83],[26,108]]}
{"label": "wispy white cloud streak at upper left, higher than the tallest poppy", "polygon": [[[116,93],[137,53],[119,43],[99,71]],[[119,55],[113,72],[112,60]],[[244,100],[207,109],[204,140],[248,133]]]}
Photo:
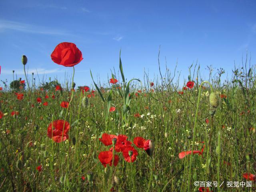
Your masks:
{"label": "wispy white cloud streak at upper left, higher than the tallest poppy", "polygon": [[9,20],[0,20],[0,32],[4,32],[6,30],[16,30],[16,31],[21,31],[26,33],[35,33],[35,34],[69,35],[63,30],[46,28],[43,26],[36,26],[36,25],[9,21]]}

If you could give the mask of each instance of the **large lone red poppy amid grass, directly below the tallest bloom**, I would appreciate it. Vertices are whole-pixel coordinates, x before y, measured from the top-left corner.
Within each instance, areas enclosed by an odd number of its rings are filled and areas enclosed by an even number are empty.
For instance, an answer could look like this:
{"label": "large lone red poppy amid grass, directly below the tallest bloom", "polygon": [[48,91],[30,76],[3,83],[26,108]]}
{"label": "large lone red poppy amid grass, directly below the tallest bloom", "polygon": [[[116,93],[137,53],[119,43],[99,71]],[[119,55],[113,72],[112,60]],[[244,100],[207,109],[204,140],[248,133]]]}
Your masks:
{"label": "large lone red poppy amid grass, directly below the tallest bloom", "polygon": [[[62,138],[63,127],[64,127],[64,132],[63,132],[63,138]],[[47,130],[47,136],[49,138],[52,138],[54,142],[60,143],[68,139],[69,128],[70,128],[70,125],[67,121],[65,121],[64,123],[64,120],[55,120],[53,122],[53,128],[52,128],[52,123],[49,124],[48,130]]]}

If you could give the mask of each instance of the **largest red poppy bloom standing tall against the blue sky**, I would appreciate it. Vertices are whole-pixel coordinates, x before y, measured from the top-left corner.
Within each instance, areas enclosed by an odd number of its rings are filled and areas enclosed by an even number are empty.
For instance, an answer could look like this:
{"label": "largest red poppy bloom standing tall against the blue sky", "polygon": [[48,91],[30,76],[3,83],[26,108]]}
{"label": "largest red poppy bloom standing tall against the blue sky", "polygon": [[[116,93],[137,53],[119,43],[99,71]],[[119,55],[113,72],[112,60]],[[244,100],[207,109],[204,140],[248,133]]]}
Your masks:
{"label": "largest red poppy bloom standing tall against the blue sky", "polygon": [[72,67],[80,63],[83,59],[82,52],[76,44],[63,42],[56,46],[51,54],[52,61],[65,67]]}

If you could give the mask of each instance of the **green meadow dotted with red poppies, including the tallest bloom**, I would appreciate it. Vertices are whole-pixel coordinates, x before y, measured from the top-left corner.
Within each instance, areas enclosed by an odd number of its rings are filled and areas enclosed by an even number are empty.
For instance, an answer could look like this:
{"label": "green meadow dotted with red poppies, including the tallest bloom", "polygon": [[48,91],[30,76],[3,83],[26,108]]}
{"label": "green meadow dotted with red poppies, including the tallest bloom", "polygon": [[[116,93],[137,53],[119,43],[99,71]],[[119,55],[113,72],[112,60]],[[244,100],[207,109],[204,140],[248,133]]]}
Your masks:
{"label": "green meadow dotted with red poppies, including the tallest bloom", "polygon": [[76,45],[51,58],[74,69],[71,84],[36,85],[22,56],[26,79],[0,88],[0,191],[256,190],[254,66],[225,82],[222,70],[206,81],[190,66],[180,88],[168,69],[126,80],[120,58],[120,79],[100,85],[90,72],[93,85],[77,88]]}

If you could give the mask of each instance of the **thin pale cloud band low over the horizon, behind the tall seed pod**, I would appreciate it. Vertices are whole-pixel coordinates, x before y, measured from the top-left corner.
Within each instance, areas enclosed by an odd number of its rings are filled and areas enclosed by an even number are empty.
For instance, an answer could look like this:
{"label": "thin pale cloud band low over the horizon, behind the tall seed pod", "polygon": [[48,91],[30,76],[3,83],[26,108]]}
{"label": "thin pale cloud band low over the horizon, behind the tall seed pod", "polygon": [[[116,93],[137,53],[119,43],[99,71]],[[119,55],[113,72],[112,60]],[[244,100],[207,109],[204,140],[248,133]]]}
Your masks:
{"label": "thin pale cloud band low over the horizon, behind the tall seed pod", "polygon": [[[26,72],[28,72],[28,75],[31,75],[32,73],[36,74],[51,74],[51,73],[63,73],[65,72],[65,70],[60,70],[60,69],[44,69],[44,68],[34,68],[34,69],[28,69],[28,71],[26,70]],[[24,74],[24,70],[21,69],[14,69],[14,73],[17,75],[23,75]],[[1,74],[6,74],[6,75],[11,75],[12,74],[12,70],[7,70],[7,69],[2,69]]]}

